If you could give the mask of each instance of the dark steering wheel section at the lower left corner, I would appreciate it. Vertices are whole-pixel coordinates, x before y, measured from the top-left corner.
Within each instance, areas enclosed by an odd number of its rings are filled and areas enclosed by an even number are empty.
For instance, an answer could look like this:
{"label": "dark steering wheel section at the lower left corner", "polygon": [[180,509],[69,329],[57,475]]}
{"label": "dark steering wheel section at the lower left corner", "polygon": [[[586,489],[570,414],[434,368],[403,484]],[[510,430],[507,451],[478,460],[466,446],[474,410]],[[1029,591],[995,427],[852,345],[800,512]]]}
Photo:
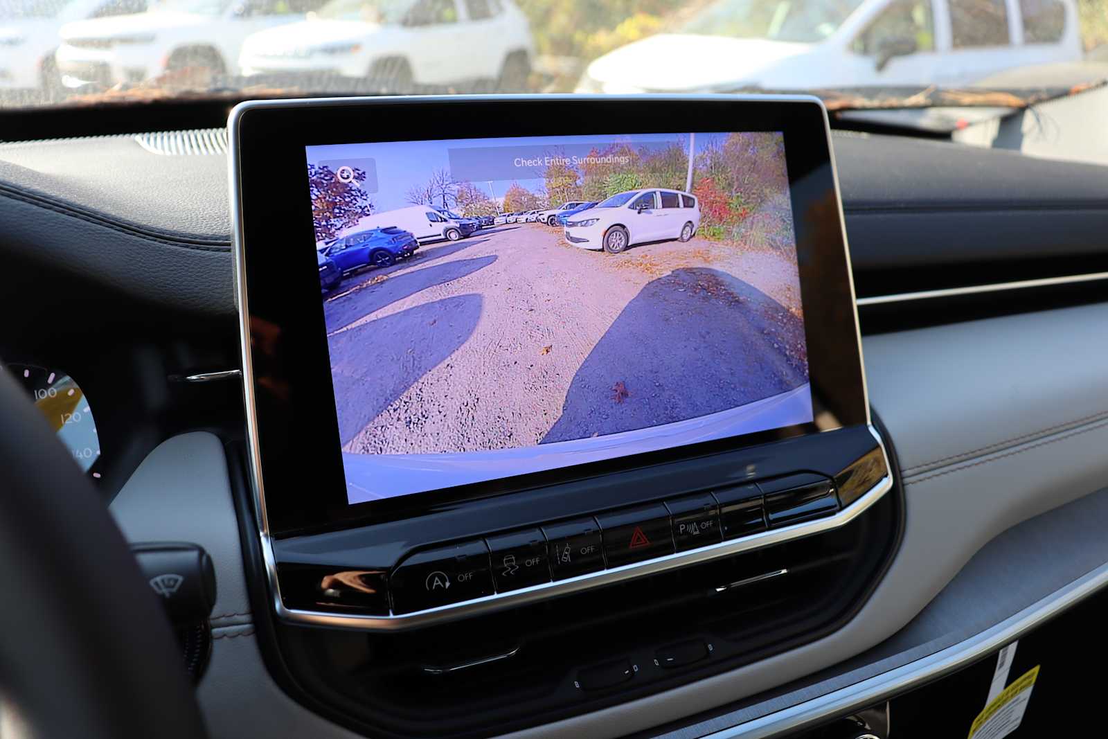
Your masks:
{"label": "dark steering wheel section at the lower left corner", "polygon": [[35,737],[205,737],[170,622],[103,499],[0,370],[0,694]]}

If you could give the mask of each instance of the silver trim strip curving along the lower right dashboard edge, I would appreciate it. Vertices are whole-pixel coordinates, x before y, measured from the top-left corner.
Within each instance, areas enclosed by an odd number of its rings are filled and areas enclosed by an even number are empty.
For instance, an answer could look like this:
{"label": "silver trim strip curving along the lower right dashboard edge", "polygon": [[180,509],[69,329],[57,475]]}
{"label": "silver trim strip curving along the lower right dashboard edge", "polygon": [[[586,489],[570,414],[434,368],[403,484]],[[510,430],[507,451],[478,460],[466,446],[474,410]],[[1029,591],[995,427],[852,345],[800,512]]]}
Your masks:
{"label": "silver trim strip curving along the lower right dashboard edge", "polygon": [[810,729],[834,716],[862,710],[987,657],[1105,586],[1108,586],[1108,564],[1040,598],[999,624],[945,649],[818,698],[705,735],[702,739],[769,739],[787,732],[791,736],[794,731]]}

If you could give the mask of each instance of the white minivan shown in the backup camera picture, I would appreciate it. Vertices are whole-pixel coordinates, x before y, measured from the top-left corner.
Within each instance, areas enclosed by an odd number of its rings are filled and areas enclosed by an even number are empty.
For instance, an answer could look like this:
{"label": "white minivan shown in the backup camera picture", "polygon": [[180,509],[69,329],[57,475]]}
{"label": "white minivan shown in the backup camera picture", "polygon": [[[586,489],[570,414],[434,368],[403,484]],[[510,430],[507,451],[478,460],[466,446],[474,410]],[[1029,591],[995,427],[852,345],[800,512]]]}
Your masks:
{"label": "white minivan shown in the backup camera picture", "polygon": [[618,254],[632,244],[687,242],[700,226],[700,203],[677,189],[629,189],[573,216],[565,238],[583,249]]}

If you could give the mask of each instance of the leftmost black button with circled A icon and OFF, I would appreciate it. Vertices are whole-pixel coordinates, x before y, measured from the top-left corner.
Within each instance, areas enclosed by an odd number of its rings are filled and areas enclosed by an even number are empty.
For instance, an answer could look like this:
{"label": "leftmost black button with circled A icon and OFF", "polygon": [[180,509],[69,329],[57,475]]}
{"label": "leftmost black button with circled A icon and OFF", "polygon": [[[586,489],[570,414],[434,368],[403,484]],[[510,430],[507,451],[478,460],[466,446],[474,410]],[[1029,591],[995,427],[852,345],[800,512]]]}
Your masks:
{"label": "leftmost black button with circled A icon and OFF", "polygon": [[397,614],[492,595],[489,547],[476,540],[417,552],[392,571],[390,585]]}

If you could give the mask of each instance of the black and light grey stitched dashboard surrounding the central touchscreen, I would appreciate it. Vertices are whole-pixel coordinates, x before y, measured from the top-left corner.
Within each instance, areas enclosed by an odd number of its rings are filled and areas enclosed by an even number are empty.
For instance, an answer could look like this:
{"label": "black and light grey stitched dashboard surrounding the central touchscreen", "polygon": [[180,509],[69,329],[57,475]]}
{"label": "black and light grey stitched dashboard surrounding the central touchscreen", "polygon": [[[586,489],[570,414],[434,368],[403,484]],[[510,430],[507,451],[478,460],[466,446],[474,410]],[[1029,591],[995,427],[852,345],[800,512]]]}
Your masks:
{"label": "black and light grey stitched dashboard surrounding the central touchscreen", "polygon": [[[634,506],[601,494],[571,511],[558,491],[461,536],[384,521],[403,547],[372,562],[346,526],[274,548],[290,567],[289,609],[307,604],[324,620],[353,597],[388,626],[427,604],[390,596],[375,613],[363,578],[412,551],[427,555],[412,562],[417,581],[439,573],[453,585],[458,553],[435,553],[448,544],[556,564],[563,545],[608,546],[607,531],[628,546],[636,531],[654,541],[661,517],[726,531],[756,500],[772,534],[766,512],[789,510],[779,500],[831,506],[802,538],[727,548],[704,566],[616,583],[603,560],[504,594],[582,576],[605,587],[500,598],[505,607],[414,629],[281,618],[250,487],[219,132],[0,145],[0,245],[18,267],[0,275],[0,305],[23,317],[0,357],[131,541],[196,542],[212,555],[219,589],[197,691],[213,736],[790,736],[991,654],[1108,577],[1092,524],[1108,485],[1108,355],[1090,341],[1108,312],[1102,280],[1069,279],[1105,271],[1104,170],[902,136],[834,132],[831,143],[872,431],[843,433],[835,449],[815,444],[820,434],[776,440],[803,445],[788,455],[800,466],[740,460],[748,445],[721,451],[721,466],[761,465],[746,494],[709,481],[710,465],[674,460]],[[1057,281],[974,289],[1043,278]],[[49,286],[51,299],[28,286]],[[924,290],[934,297],[913,297]],[[820,525],[850,511],[842,472],[874,450],[888,492],[864,515]],[[499,515],[490,500],[428,507],[484,523]],[[638,506],[656,515],[616,515]],[[593,528],[568,525],[586,515]],[[532,528],[541,538],[517,536]],[[721,531],[719,544],[755,541],[745,535]],[[649,554],[683,556],[673,541]],[[1020,554],[1043,542],[1049,556]],[[334,599],[320,606],[311,588],[322,579]]]}

